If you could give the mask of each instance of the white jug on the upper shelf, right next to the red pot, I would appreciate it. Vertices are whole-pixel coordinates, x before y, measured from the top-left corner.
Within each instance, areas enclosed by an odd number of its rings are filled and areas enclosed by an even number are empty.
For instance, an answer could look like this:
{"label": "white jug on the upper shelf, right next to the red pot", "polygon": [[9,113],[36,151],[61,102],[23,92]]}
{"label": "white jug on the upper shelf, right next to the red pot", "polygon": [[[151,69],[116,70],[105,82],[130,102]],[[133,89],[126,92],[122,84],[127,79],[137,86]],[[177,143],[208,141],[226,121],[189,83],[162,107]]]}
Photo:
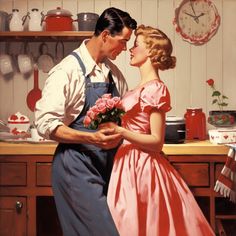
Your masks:
{"label": "white jug on the upper shelf, right next to the red pot", "polygon": [[29,13],[29,31],[42,31],[43,14],[38,8],[33,8]]}

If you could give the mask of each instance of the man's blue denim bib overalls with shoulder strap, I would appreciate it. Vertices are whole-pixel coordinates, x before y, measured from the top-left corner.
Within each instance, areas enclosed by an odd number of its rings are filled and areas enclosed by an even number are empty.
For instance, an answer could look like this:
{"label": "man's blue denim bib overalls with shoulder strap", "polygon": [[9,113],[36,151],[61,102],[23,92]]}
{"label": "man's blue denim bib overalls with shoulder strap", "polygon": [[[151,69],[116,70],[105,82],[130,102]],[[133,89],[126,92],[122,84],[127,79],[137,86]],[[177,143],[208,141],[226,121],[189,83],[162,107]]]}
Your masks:
{"label": "man's blue denim bib overalls with shoulder strap", "polygon": [[[85,75],[85,67],[78,60]],[[71,128],[94,132],[84,127],[87,110],[105,93],[119,96],[109,73],[109,83],[91,83],[85,78],[85,104]],[[118,235],[110,214],[106,193],[116,149],[102,150],[89,144],[63,144],[56,149],[52,186],[57,212],[64,236],[113,236]]]}

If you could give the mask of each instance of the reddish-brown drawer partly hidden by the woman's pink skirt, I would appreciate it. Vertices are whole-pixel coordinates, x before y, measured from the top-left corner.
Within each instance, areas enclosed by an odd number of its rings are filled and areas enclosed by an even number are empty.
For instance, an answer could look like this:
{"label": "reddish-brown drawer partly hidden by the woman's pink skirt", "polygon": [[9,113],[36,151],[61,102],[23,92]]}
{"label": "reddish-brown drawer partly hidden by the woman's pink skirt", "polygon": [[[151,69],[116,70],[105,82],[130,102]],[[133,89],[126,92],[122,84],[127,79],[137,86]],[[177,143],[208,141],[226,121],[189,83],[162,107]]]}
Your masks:
{"label": "reddish-brown drawer partly hidden by the woman's pink skirt", "polygon": [[172,163],[188,186],[209,186],[209,166],[207,163]]}

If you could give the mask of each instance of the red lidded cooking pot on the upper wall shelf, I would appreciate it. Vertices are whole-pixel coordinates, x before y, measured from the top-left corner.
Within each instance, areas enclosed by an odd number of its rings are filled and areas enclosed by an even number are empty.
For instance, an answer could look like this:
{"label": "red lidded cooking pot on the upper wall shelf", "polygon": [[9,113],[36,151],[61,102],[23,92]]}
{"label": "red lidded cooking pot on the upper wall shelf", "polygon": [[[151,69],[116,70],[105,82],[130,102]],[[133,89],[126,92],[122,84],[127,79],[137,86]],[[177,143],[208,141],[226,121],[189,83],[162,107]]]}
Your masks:
{"label": "red lidded cooking pot on the upper wall shelf", "polygon": [[72,31],[73,19],[72,14],[60,7],[47,12],[44,21],[46,22],[46,31]]}

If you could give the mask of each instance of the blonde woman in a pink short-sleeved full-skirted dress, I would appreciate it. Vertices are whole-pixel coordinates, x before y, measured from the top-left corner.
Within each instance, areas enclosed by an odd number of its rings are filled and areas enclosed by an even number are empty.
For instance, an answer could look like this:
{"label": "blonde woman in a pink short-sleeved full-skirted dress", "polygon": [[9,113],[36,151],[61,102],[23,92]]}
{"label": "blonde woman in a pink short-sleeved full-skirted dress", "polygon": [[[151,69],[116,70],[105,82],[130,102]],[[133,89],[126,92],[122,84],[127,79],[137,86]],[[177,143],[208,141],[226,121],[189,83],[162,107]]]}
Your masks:
{"label": "blonde woman in a pink short-sleeved full-skirted dress", "polygon": [[161,152],[165,113],[171,109],[159,70],[175,67],[170,39],[139,26],[130,64],[139,85],[122,99],[126,114],[115,130],[123,144],[115,156],[108,205],[121,236],[214,235],[191,191]]}

